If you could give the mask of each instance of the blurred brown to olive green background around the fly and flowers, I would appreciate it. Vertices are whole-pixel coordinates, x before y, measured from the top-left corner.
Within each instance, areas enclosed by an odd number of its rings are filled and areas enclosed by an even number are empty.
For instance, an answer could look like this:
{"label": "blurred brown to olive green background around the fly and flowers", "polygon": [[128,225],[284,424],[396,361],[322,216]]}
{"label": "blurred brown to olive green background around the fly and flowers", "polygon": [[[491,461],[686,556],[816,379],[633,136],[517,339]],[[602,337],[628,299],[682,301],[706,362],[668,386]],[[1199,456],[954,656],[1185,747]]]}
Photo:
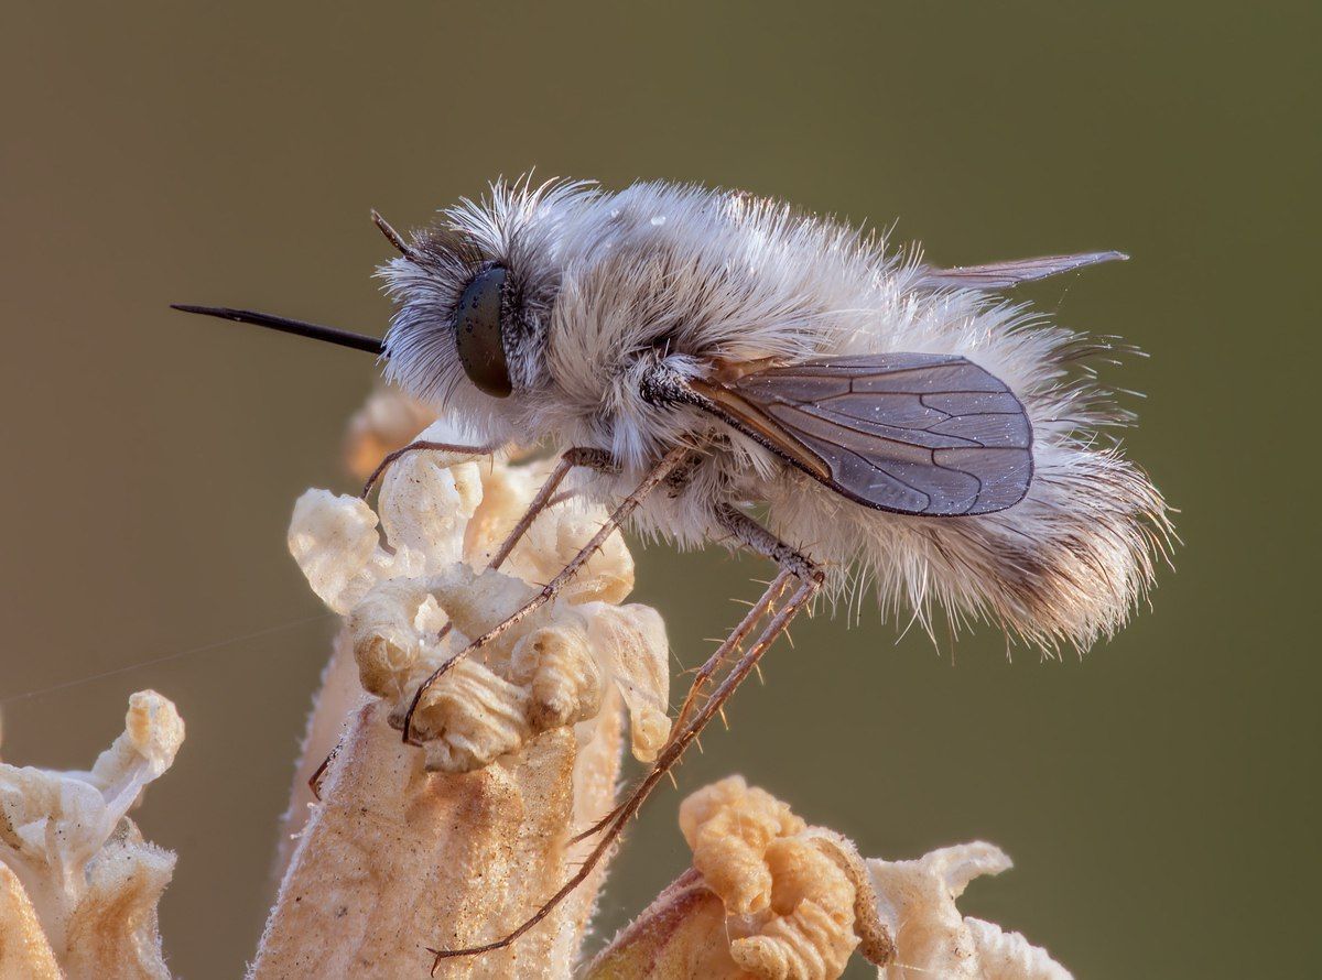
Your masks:
{"label": "blurred brown to olive green background around the fly and flowers", "polygon": [[[369,358],[186,320],[231,302],[381,332],[378,207],[420,225],[497,174],[666,177],[898,219],[941,263],[1122,248],[1029,293],[1150,353],[1126,436],[1186,544],[1084,658],[933,650],[817,617],[705,740],[865,853],[984,837],[965,911],[1079,976],[1315,968],[1315,4],[7,3],[0,482],[8,761],[82,767],[126,697],[188,741],[139,812],[180,855],[186,977],[233,977],[333,622],[284,549],[348,487]],[[642,556],[676,655],[755,563]],[[267,631],[267,633],[263,633]],[[254,635],[256,634],[256,635]],[[58,692],[163,654],[222,645]],[[680,794],[633,828],[609,932],[676,874]],[[1307,964],[1307,965],[1306,965]],[[851,976],[863,976],[857,965]]]}

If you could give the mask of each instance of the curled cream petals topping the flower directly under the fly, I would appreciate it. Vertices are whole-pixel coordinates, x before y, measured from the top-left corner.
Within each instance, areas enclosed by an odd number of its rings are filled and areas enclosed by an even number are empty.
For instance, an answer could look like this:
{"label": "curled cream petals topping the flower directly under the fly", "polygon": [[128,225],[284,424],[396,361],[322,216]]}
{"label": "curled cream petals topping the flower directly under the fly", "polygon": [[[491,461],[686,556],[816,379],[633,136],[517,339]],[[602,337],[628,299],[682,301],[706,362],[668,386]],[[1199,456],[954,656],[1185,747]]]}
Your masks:
{"label": "curled cream petals topping the flower directly under the fly", "polygon": [[[526,507],[538,482],[527,470],[537,469],[418,452],[387,472],[379,518],[324,490],[295,506],[290,549],[313,590],[349,615],[360,680],[390,701],[391,724],[402,725],[436,667],[530,600],[605,519],[600,507],[551,507],[510,553],[509,572],[475,571]],[[633,559],[612,535],[555,601],[432,684],[411,728],[427,767],[472,771],[543,730],[595,717],[607,683],[629,708],[635,752],[654,754],[669,734],[668,647],[653,610],[617,605],[632,586]]]}

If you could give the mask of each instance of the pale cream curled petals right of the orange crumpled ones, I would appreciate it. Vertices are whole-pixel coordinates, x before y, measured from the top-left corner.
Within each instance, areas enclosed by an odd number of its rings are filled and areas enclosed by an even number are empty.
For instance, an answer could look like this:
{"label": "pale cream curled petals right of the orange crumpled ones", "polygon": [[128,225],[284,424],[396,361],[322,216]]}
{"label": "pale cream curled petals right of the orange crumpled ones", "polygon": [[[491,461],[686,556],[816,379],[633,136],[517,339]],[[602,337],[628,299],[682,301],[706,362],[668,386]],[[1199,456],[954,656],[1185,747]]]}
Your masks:
{"label": "pale cream curled petals right of the orange crumpled ones", "polygon": [[960,915],[954,899],[973,878],[1010,866],[1003,851],[981,841],[933,851],[916,861],[870,860],[878,913],[896,936],[895,962],[879,976],[1068,980],[1064,967],[1018,932]]}

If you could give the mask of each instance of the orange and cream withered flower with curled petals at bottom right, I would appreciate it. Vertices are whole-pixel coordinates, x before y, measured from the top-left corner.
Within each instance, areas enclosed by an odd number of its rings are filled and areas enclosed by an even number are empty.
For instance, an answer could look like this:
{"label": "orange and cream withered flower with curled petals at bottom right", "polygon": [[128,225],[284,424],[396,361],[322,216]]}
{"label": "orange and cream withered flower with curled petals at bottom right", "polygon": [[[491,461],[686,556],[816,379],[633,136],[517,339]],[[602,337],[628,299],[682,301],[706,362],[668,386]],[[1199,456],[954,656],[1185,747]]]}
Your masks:
{"label": "orange and cream withered flower with curled petals at bottom right", "polygon": [[680,807],[693,868],[592,962],[587,980],[833,980],[857,947],[880,980],[1068,980],[1018,932],[964,918],[954,899],[1010,860],[990,844],[917,861],[863,861],[730,777]]}

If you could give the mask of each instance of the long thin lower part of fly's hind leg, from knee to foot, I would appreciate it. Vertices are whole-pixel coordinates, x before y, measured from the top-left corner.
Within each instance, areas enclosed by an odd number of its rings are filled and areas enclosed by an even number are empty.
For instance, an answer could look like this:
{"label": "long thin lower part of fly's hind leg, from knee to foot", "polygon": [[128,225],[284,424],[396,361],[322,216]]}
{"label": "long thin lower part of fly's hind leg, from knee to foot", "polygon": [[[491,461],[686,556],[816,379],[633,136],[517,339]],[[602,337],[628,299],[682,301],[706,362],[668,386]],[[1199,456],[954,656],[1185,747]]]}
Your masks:
{"label": "long thin lower part of fly's hind leg, from knee to foot", "polygon": [[575,872],[574,876],[570,877],[570,880],[566,881],[564,885],[562,885],[561,889],[551,895],[541,909],[533,913],[533,915],[529,917],[518,928],[508,935],[481,946],[472,946],[463,950],[434,950],[428,947],[427,952],[434,956],[431,964],[432,975],[435,975],[436,969],[440,967],[442,960],[455,956],[476,956],[479,954],[502,950],[509,946],[525,932],[535,927],[537,923],[545,919],[557,905],[564,901],[564,898],[574,892],[574,889],[582,885],[587,880],[588,874],[592,873],[592,869],[619,840],[620,835],[624,832],[625,824],[639,811],[644,800],[646,800],[650,795],[652,790],[656,788],[656,785],[666,775],[666,773],[670,771],[676,762],[680,761],[683,750],[689,748],[693,740],[702,733],[703,728],[706,728],[707,722],[710,722],[724,703],[730,700],[735,688],[738,688],[748,674],[752,672],[754,667],[758,666],[758,660],[761,659],[761,655],[765,654],[767,648],[776,641],[776,638],[785,631],[789,626],[789,621],[793,619],[795,615],[812,601],[820,588],[820,573],[817,577],[808,578],[800,584],[798,589],[796,589],[795,594],[789,597],[785,606],[776,613],[769,623],[767,623],[765,629],[763,629],[761,634],[758,637],[758,641],[748,648],[748,652],[739,659],[726,679],[720,682],[720,685],[713,692],[707,703],[702,705],[693,721],[682,732],[677,732],[670,741],[666,742],[666,746],[661,750],[661,754],[657,757],[652,770],[637,786],[637,788],[633,790],[629,798],[616,810],[613,818],[605,827],[605,832],[602,835],[602,839],[598,841],[596,847],[592,848],[591,853],[583,860],[583,864],[579,865],[578,872]]}

